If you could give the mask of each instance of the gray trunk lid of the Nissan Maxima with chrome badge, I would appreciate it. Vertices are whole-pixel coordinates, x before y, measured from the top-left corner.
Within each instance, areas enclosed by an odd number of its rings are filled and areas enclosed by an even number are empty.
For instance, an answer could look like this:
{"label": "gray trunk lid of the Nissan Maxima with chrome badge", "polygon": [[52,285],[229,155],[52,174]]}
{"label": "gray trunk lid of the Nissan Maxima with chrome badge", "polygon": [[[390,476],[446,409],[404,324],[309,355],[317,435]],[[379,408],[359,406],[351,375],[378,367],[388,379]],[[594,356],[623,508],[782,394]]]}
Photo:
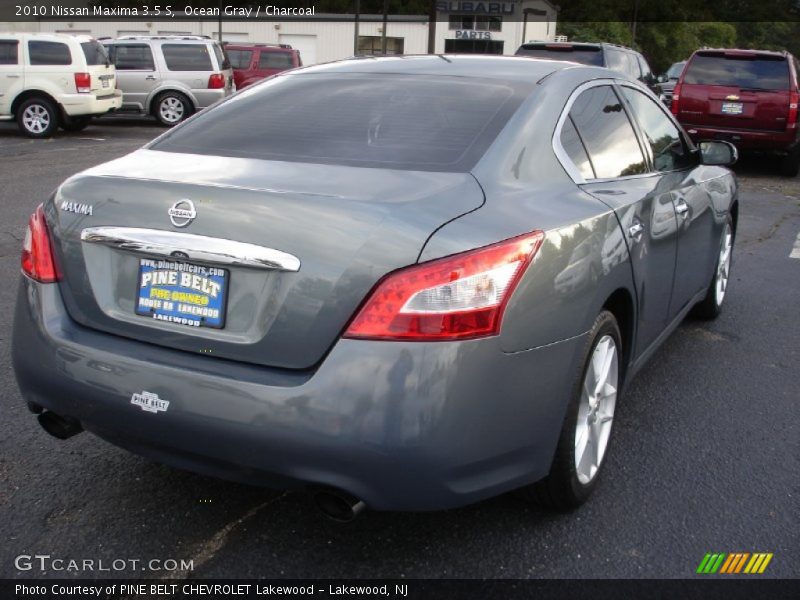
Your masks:
{"label": "gray trunk lid of the Nissan Maxima with chrome badge", "polygon": [[[438,227],[482,203],[469,173],[140,150],[68,180],[47,210],[62,296],[80,324],[190,352],[305,369],[324,357],[383,275],[416,262]],[[191,243],[159,254],[89,239],[108,227]],[[186,235],[196,237],[180,237]],[[202,237],[212,241],[198,246]],[[298,270],[209,261],[225,240],[294,257]],[[155,259],[226,271],[221,327],[137,314],[147,308],[139,300],[148,270],[142,261]],[[208,285],[181,293],[202,295]]]}

